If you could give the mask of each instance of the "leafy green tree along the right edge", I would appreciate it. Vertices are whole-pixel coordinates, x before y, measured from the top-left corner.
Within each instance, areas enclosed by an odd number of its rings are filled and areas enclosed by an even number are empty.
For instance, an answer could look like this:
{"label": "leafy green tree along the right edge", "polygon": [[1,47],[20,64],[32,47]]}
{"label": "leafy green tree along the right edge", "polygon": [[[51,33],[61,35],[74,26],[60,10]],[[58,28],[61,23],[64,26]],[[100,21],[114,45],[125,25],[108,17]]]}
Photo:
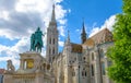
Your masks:
{"label": "leafy green tree along the right edge", "polygon": [[107,51],[112,61],[108,75],[116,83],[131,83],[131,0],[122,1],[122,13],[117,15],[112,31],[115,45]]}

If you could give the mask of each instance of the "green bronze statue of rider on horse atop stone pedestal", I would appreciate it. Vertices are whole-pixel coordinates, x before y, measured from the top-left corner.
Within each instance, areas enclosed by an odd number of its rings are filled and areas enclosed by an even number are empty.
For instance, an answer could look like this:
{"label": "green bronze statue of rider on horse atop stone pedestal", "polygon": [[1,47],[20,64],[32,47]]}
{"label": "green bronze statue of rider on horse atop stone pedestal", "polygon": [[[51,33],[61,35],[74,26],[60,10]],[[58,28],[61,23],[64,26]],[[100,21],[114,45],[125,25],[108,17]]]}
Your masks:
{"label": "green bronze statue of rider on horse atop stone pedestal", "polygon": [[43,47],[43,32],[38,27],[35,33],[32,34],[31,36],[31,51],[37,51],[41,52],[41,47]]}

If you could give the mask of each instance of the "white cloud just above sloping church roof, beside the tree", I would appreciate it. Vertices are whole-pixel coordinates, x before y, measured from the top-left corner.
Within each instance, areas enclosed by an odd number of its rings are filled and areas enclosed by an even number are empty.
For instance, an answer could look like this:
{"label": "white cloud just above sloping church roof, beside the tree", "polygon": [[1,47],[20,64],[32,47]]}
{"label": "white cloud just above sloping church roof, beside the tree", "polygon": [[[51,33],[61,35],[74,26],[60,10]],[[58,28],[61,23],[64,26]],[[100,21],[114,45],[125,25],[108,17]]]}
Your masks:
{"label": "white cloud just above sloping church roof, beside the tree", "polygon": [[112,25],[116,23],[116,15],[111,15],[108,20],[105,21],[104,25],[100,27],[96,27],[96,23],[93,24],[93,29],[90,33],[90,37],[98,33],[99,31],[104,28],[108,28],[109,31],[112,31]]}

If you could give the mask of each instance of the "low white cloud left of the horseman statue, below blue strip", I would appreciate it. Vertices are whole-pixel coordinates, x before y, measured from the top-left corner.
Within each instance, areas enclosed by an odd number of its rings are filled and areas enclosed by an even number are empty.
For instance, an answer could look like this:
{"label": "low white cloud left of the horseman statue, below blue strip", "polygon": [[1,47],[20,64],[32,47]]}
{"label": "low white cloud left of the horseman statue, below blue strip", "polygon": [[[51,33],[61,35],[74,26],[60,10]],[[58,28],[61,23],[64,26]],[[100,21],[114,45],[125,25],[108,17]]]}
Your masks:
{"label": "low white cloud left of the horseman statue, below blue strip", "polygon": [[[0,61],[7,61],[11,59],[13,61],[13,64],[19,66],[20,64],[19,54],[28,50],[29,47],[28,42],[29,42],[28,38],[23,37],[17,42],[17,44],[15,44],[12,47],[0,45],[1,48]],[[4,57],[2,57],[2,55],[4,55]]]}

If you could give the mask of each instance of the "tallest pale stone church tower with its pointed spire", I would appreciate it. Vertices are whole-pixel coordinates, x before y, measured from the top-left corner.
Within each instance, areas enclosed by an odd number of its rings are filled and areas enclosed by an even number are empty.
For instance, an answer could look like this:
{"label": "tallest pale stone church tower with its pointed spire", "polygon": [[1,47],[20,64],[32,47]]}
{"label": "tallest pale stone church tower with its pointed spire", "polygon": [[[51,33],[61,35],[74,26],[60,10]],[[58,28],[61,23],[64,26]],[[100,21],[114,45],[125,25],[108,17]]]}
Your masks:
{"label": "tallest pale stone church tower with its pointed spire", "polygon": [[55,58],[56,55],[58,55],[58,29],[53,4],[51,20],[47,28],[47,45],[46,45],[47,61],[52,62],[52,59]]}

